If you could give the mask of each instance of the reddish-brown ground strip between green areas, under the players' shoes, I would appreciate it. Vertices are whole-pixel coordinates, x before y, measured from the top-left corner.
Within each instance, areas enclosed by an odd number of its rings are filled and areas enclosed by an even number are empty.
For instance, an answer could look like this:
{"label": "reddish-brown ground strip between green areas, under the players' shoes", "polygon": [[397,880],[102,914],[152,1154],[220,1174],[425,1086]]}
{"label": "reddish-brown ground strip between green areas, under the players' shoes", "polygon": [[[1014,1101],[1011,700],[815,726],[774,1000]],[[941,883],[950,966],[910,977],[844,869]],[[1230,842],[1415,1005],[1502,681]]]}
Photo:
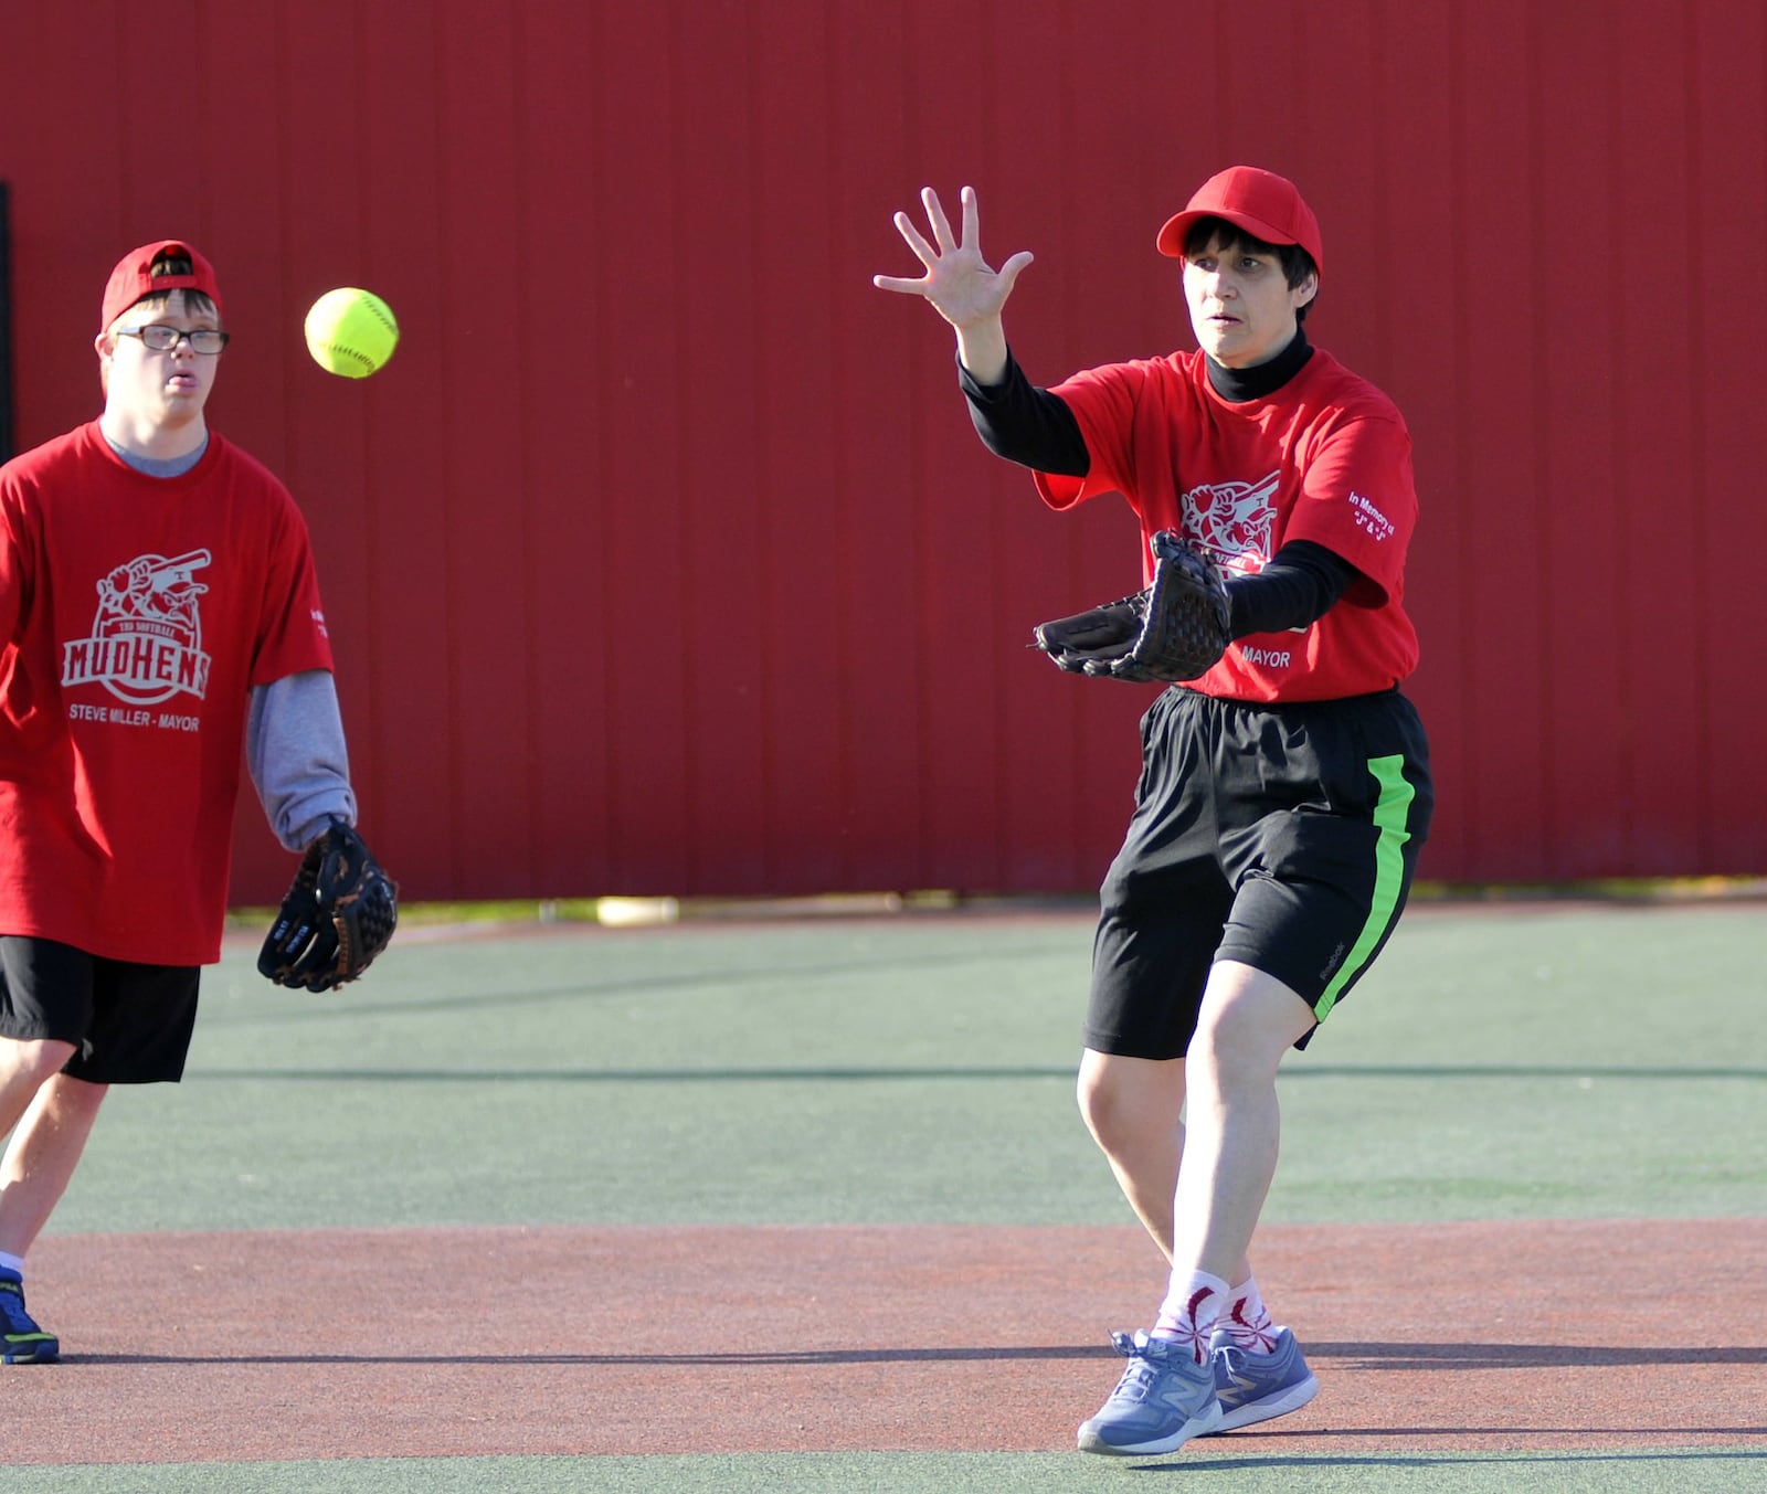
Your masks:
{"label": "reddish-brown ground strip between green areas, under the players' shoes", "polygon": [[[1191,1452],[1767,1439],[1767,1220],[1269,1227],[1322,1390]],[[1055,1450],[1163,1271],[1134,1227],[49,1236],[7,1460]],[[1394,1294],[1389,1294],[1394,1293]]]}

